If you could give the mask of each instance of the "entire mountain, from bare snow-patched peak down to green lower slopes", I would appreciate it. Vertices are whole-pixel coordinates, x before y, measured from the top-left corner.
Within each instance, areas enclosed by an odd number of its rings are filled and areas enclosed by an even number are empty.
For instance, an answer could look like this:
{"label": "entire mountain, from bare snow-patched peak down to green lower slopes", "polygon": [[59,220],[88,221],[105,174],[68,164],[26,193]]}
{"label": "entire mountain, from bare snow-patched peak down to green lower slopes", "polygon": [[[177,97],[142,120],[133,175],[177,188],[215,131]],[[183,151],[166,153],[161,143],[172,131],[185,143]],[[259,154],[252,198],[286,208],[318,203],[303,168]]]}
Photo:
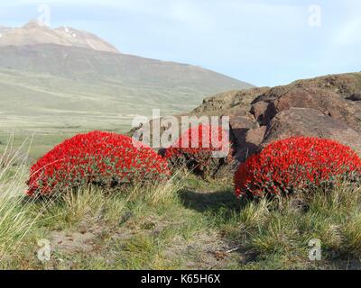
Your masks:
{"label": "entire mountain, from bare snow-patched peak down to green lower slopes", "polygon": [[2,27],[0,36],[0,123],[8,128],[129,127],[134,114],[186,112],[207,95],[252,86],[202,67],[126,55],[69,27],[31,22]]}

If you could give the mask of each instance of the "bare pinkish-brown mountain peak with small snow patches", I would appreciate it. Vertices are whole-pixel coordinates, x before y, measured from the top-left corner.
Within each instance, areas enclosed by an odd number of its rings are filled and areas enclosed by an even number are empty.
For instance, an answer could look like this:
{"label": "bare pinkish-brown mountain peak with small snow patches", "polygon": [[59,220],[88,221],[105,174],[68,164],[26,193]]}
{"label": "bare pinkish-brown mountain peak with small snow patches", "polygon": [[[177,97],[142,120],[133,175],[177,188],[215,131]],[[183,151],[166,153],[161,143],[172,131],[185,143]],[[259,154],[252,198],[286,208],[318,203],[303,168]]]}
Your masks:
{"label": "bare pinkish-brown mountain peak with small snow patches", "polygon": [[97,37],[97,35],[87,31],[78,31],[68,26],[51,29],[37,20],[31,20],[21,28],[2,29],[1,32],[0,47],[56,44],[119,53],[113,45]]}

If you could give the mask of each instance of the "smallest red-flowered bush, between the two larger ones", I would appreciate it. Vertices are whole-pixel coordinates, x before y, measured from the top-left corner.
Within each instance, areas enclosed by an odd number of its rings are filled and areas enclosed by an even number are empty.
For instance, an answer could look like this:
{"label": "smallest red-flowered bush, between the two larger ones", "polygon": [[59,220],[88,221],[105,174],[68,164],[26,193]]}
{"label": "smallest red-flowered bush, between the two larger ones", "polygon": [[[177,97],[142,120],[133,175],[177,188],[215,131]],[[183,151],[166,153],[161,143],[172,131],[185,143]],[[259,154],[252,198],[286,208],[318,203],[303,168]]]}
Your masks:
{"label": "smallest red-flowered bush, between the two larger ones", "polygon": [[187,168],[196,175],[214,177],[232,161],[229,134],[219,126],[199,125],[181,135],[164,156],[173,170]]}

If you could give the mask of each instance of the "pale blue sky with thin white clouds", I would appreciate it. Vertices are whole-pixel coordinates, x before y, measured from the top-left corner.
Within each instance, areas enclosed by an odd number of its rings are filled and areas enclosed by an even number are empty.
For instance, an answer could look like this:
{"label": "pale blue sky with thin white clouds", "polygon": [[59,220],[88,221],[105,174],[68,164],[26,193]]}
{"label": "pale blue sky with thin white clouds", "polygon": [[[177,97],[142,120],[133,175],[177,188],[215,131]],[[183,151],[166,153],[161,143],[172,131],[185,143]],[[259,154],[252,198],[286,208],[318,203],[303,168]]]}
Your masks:
{"label": "pale blue sky with thin white clouds", "polygon": [[361,71],[359,0],[0,3],[3,26],[44,15],[52,28],[94,32],[122,53],[189,63],[258,86]]}

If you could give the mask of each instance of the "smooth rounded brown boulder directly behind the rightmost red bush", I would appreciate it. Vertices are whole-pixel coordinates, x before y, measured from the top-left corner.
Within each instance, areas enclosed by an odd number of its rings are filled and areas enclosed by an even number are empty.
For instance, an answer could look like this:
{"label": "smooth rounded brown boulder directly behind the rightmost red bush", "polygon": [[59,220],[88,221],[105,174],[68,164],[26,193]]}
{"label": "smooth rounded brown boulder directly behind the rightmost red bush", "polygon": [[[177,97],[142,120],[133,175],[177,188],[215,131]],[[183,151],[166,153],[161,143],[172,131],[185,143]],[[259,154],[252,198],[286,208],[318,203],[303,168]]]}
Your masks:
{"label": "smooth rounded brown boulder directly behind the rightmost red bush", "polygon": [[334,139],[361,155],[361,133],[342,121],[309,108],[292,107],[279,112],[269,124],[260,147],[292,136]]}

